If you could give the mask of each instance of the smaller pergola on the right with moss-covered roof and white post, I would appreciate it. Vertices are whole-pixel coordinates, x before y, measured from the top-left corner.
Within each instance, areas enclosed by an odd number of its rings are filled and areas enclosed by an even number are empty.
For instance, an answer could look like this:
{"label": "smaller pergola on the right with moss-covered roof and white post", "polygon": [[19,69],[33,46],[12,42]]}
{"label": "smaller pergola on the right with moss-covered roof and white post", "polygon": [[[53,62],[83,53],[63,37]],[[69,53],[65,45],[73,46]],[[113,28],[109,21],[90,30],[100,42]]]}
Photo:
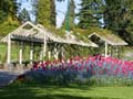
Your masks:
{"label": "smaller pergola on the right with moss-covered roof and white post", "polygon": [[123,41],[121,37],[114,35],[114,34],[111,34],[111,33],[94,32],[89,35],[89,38],[92,37],[93,35],[100,37],[102,41],[105,42],[105,57],[108,57],[108,45],[109,44],[112,46],[127,45],[127,43],[125,41]]}

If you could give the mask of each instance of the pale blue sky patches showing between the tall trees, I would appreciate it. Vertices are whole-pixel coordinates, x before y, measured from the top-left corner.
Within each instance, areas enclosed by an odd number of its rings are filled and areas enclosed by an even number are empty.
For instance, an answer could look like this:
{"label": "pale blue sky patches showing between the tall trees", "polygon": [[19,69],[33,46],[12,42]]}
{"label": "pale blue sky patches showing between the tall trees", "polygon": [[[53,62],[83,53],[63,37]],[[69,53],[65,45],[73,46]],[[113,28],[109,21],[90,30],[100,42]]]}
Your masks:
{"label": "pale blue sky patches showing between the tall trees", "polygon": [[[21,9],[25,8],[29,12],[32,12],[32,6],[30,3],[30,0],[18,0],[20,2],[23,2],[21,6]],[[80,3],[80,0],[74,0],[75,1],[75,6],[76,6],[76,10],[75,12],[79,12],[80,7],[78,6]],[[63,20],[64,20],[64,15],[66,12],[66,6],[68,6],[68,0],[64,0],[64,2],[55,2],[55,11],[57,11],[57,28],[60,28]],[[34,15],[31,14],[30,15],[32,20],[34,20]],[[78,19],[75,19],[75,23],[78,23]]]}

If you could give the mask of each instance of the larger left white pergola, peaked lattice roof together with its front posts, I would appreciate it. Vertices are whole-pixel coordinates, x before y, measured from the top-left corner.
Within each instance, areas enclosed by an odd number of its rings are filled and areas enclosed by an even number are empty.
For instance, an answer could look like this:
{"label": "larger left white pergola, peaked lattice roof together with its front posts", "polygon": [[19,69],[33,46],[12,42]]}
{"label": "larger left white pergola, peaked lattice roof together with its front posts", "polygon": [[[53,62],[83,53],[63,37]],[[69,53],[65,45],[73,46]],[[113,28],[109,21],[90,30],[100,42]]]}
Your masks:
{"label": "larger left white pergola, peaked lattice roof together with its front posts", "polygon": [[[69,36],[70,35],[72,34],[69,34]],[[49,32],[41,24],[34,25],[31,22],[25,22],[1,40],[1,42],[8,43],[8,56],[7,56],[8,64],[11,63],[11,41],[20,42],[19,64],[22,64],[22,52],[23,52],[22,45],[24,42],[29,42],[31,45],[31,50],[30,50],[31,64],[33,61],[33,44],[34,43],[43,44],[43,51],[40,53],[41,55],[40,59],[42,55],[45,56],[47,43],[50,43],[51,41],[54,43],[76,44],[76,45],[82,45],[82,46],[98,47],[98,45],[91,41],[86,43],[81,40],[78,40],[75,36],[74,38],[71,38],[71,37],[62,38],[61,36],[55,35],[55,33]]]}

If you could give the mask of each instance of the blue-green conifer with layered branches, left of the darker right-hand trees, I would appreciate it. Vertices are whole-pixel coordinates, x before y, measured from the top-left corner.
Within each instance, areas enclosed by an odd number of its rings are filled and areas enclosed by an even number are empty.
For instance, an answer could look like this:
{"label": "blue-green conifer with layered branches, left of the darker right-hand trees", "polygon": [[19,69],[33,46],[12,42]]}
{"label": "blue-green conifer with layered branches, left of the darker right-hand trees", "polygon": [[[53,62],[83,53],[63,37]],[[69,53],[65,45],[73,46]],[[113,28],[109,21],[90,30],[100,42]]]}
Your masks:
{"label": "blue-green conifer with layered branches, left of the darker right-hand trees", "polygon": [[81,29],[88,29],[92,26],[100,26],[100,19],[102,18],[102,0],[83,0],[81,2],[81,9],[78,13],[79,26]]}

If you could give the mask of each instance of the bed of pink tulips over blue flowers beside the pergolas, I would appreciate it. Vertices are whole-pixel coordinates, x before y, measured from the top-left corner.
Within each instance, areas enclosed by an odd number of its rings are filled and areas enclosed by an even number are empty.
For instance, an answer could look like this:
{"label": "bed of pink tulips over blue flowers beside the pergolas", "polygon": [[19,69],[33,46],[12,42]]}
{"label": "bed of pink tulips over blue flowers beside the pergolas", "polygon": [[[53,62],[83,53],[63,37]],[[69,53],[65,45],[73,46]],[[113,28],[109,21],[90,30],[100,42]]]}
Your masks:
{"label": "bed of pink tulips over blue flowers beside the pergolas", "polygon": [[69,61],[40,62],[27,78],[44,84],[86,84],[95,86],[133,85],[133,62],[100,55]]}

